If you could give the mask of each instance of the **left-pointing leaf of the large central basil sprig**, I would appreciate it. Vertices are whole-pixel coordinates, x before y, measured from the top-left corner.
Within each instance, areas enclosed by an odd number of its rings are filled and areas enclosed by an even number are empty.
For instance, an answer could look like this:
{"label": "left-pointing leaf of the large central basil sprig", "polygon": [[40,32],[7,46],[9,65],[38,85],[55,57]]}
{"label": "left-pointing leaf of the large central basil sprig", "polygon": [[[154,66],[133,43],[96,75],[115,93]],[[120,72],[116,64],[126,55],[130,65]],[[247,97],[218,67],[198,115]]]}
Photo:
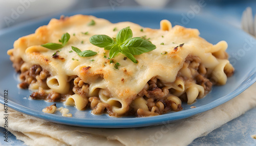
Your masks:
{"label": "left-pointing leaf of the large central basil sprig", "polygon": [[110,50],[113,44],[115,44],[114,40],[107,35],[94,35],[89,40],[98,47],[105,47],[106,50]]}

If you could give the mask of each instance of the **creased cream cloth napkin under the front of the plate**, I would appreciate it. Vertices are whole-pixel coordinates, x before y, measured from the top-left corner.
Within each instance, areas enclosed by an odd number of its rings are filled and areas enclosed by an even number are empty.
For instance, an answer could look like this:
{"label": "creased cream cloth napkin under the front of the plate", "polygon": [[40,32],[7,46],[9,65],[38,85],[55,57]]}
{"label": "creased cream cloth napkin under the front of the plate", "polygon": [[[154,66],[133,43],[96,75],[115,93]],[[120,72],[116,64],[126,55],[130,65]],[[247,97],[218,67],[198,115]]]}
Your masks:
{"label": "creased cream cloth napkin under the front of the plate", "polygon": [[[256,83],[209,111],[147,128],[99,129],[51,123],[9,109],[8,130],[27,145],[187,145],[256,107]],[[3,105],[0,104],[3,113]],[[0,118],[0,126],[4,119]]]}

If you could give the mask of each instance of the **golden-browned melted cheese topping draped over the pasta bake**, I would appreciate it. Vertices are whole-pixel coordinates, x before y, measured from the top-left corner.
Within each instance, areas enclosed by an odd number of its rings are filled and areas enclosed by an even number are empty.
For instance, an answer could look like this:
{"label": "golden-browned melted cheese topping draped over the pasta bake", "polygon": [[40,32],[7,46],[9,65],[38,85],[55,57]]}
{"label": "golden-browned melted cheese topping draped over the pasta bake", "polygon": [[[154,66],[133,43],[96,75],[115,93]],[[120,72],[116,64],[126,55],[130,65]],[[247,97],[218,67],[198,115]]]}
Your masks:
{"label": "golden-browned melted cheese topping draped over the pasta bake", "polygon": [[[95,21],[94,26],[88,26],[91,20]],[[143,28],[132,22],[111,23],[94,16],[75,15],[60,20],[52,19],[49,25],[38,28],[35,34],[19,38],[14,43],[12,53],[14,57],[20,57],[25,62],[39,64],[59,80],[68,82],[69,77],[80,77],[84,83],[90,84],[92,96],[98,88],[108,89],[111,98],[119,101],[125,108],[151,78],[156,76],[163,82],[174,82],[189,54],[198,56],[205,67],[211,68],[219,63],[211,53],[220,50],[220,46],[226,50],[225,41],[212,45],[199,37],[197,29],[186,29],[181,26],[168,28],[168,26],[163,22],[162,30],[158,30]],[[156,49],[135,56],[138,60],[137,64],[128,58],[124,60],[125,56],[122,54],[113,59],[114,63],[110,63],[107,59],[109,51],[91,44],[89,38],[96,34],[116,37],[117,32],[125,27],[132,29],[133,37],[144,36],[149,39],[156,45]],[[113,31],[114,28],[117,28],[116,31]],[[141,29],[143,31],[140,31]],[[58,52],[59,58],[63,59],[52,58],[56,50],[40,46],[48,42],[59,43],[61,35],[67,32],[71,35],[70,40]],[[83,34],[85,32],[88,34]],[[182,47],[174,49],[182,43],[184,43]],[[71,46],[78,47],[81,51],[92,50],[97,52],[97,55],[80,57],[74,51],[70,53]],[[114,65],[117,62],[120,66],[115,69]],[[61,90],[60,93],[65,93],[67,89]]]}

